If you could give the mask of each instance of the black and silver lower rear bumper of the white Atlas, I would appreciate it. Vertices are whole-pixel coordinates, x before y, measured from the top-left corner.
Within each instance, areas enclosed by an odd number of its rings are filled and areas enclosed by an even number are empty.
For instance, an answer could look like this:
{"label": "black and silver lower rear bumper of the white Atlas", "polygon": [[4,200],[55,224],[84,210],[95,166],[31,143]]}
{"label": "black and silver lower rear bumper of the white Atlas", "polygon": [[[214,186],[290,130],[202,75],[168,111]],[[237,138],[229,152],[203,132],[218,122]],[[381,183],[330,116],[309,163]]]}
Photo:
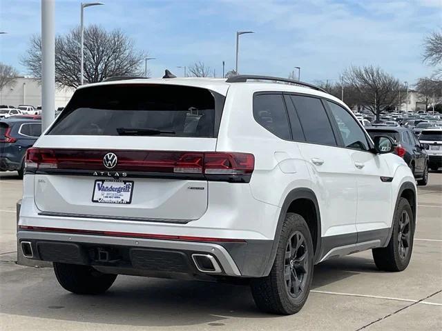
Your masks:
{"label": "black and silver lower rear bumper of the white Atlas", "polygon": [[[262,277],[272,244],[267,240],[201,243],[28,230],[19,230],[17,239],[30,243],[32,259],[93,265],[118,274],[184,279]],[[108,258],[101,259],[99,252],[106,252]],[[220,270],[199,270],[193,254],[210,255]]]}

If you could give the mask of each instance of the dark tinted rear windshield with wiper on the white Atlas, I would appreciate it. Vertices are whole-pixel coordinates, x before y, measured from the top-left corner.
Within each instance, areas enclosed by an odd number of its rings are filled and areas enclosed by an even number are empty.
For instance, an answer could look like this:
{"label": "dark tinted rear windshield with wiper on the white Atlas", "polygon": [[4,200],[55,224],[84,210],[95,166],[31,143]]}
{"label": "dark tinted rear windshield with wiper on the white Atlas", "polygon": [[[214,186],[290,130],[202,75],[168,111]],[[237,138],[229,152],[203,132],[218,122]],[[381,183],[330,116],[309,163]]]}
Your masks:
{"label": "dark tinted rear windshield with wiper on the white Atlas", "polygon": [[216,137],[224,97],[204,88],[122,84],[79,89],[48,134]]}

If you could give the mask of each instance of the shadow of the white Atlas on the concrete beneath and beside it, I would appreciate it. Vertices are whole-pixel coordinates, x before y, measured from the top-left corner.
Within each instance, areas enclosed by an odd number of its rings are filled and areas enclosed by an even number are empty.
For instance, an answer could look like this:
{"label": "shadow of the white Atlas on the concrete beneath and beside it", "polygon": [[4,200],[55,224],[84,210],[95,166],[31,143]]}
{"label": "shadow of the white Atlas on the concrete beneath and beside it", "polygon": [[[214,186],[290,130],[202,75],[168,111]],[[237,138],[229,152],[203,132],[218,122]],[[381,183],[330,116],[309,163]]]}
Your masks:
{"label": "shadow of the white Atlas on the concrete beneath and beside it", "polygon": [[[344,257],[320,263],[312,288],[359,272],[376,272],[372,259]],[[1,278],[3,314],[157,327],[218,326],[229,317],[275,317],[258,311],[247,285],[119,276],[105,294],[81,296],[59,287],[50,268],[20,268],[3,272]]]}

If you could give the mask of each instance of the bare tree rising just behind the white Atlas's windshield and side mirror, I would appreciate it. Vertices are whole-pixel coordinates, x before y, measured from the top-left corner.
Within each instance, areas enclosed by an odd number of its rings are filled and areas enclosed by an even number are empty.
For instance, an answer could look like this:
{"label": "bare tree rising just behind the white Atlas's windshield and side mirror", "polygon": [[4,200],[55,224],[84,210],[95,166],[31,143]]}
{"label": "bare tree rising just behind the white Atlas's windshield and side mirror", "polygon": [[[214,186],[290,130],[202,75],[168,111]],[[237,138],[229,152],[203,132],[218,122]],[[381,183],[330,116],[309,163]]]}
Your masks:
{"label": "bare tree rising just behind the white Atlas's windshield and side mirror", "polygon": [[401,83],[379,67],[350,67],[343,72],[343,81],[354,90],[363,108],[376,115],[376,119],[383,109],[398,104]]}

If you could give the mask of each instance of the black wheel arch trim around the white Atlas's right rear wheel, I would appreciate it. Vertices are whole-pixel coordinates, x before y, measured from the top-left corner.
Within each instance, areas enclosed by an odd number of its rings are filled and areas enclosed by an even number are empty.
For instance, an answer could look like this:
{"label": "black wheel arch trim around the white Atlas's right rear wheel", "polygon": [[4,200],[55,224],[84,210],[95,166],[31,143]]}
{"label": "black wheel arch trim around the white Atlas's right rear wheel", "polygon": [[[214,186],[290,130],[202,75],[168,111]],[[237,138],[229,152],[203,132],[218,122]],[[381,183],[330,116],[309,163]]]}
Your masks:
{"label": "black wheel arch trim around the white Atlas's right rear wheel", "polygon": [[[287,194],[284,203],[282,203],[275,237],[273,237],[270,256],[263,276],[269,274],[271,267],[273,266],[273,261],[275,261],[282,223],[284,223],[287,212],[297,212],[306,219],[307,225],[309,225],[311,239],[314,243],[314,261],[318,261],[321,244],[321,223],[318,199],[316,198],[316,194],[310,188],[295,188]],[[314,213],[313,215],[311,214],[312,212]]]}

